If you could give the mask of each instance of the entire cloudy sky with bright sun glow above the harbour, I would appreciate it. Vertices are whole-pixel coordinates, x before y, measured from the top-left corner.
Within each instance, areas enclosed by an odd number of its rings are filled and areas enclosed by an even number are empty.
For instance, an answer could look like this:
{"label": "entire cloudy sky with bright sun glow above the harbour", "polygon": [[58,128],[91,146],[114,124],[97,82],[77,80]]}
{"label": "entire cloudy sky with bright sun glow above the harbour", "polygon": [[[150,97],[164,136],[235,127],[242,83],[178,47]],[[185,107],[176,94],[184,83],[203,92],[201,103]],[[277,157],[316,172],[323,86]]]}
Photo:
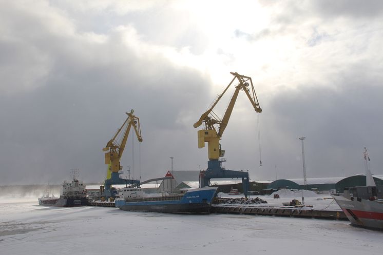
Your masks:
{"label": "entire cloudy sky with bright sun glow above the harbour", "polygon": [[131,109],[143,142],[129,135],[125,175],[164,176],[171,156],[206,169],[193,124],[230,72],[252,77],[262,113],[238,96],[226,169],[302,178],[304,136],[308,178],[365,172],[364,147],[383,174],[382,41],[381,1],[0,0],[0,185],[70,169],[102,182],[102,148]]}

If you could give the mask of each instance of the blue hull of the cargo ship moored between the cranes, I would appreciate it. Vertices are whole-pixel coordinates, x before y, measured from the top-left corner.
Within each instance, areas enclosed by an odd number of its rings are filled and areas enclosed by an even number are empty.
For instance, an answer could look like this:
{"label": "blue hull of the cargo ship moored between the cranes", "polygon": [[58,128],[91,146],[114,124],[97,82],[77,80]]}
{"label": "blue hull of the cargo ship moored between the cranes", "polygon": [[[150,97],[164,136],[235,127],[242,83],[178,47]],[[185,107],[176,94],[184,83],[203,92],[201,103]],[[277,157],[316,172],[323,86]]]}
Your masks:
{"label": "blue hull of the cargo ship moored between the cranes", "polygon": [[166,213],[210,213],[217,187],[188,190],[184,195],[141,199],[117,199],[116,207],[125,211]]}

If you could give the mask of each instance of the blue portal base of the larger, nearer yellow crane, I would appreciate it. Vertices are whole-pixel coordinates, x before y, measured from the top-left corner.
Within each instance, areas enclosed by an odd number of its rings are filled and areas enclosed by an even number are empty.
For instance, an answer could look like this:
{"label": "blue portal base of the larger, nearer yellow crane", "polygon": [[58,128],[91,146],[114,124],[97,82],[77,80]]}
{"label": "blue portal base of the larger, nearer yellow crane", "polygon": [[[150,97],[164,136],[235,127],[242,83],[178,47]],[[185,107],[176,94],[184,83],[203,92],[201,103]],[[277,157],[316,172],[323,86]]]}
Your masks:
{"label": "blue portal base of the larger, nearer yellow crane", "polygon": [[248,172],[222,169],[219,160],[209,160],[207,162],[207,169],[200,173],[200,188],[208,187],[210,179],[221,178],[242,178],[243,193],[247,198]]}

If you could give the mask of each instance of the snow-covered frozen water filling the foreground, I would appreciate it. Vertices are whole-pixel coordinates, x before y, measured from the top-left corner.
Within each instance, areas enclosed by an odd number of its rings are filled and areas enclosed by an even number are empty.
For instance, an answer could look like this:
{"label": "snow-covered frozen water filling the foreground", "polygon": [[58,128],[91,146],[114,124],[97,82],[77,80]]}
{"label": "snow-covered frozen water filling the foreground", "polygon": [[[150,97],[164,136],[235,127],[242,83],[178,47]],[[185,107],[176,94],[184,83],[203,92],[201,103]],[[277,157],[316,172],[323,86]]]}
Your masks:
{"label": "snow-covered frozen water filling the foreground", "polygon": [[346,221],[46,207],[36,199],[0,203],[1,255],[360,255],[383,250],[383,232]]}

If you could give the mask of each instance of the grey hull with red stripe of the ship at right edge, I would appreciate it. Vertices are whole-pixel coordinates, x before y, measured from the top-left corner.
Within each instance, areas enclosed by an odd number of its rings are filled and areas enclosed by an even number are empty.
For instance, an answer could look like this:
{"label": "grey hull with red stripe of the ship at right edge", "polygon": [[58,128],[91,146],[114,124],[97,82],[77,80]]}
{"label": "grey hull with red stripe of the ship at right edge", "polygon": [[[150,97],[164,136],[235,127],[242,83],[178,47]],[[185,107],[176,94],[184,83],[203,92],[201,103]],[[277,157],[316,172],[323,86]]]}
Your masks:
{"label": "grey hull with red stripe of the ship at right edge", "polygon": [[351,224],[383,230],[383,204],[365,199],[348,199],[333,196]]}

